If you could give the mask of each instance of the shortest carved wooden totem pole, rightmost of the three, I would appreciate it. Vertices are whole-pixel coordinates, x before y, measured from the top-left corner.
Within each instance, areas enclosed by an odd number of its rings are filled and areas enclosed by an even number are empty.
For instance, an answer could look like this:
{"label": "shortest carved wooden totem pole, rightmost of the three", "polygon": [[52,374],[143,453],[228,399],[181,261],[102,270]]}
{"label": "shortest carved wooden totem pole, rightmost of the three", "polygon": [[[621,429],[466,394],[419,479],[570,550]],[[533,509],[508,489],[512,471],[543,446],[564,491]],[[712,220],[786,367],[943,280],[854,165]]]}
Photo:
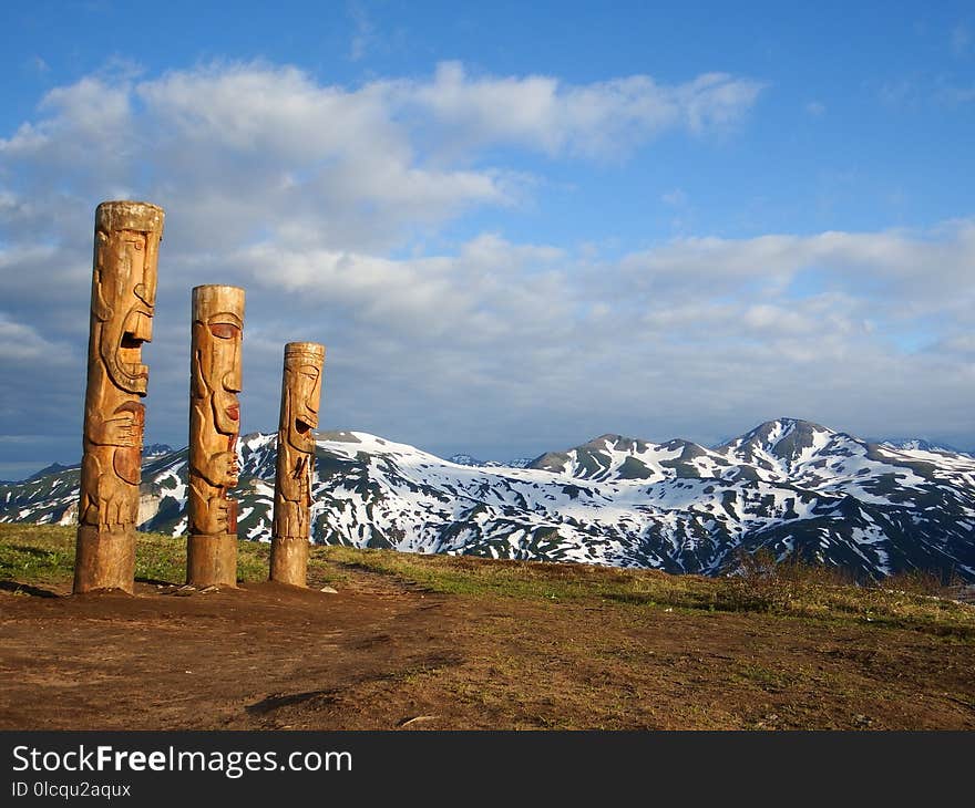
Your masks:
{"label": "shortest carved wooden totem pole, rightmost of the three", "polygon": [[270,579],[304,587],[307,583],[311,470],[321,398],[325,345],[289,342],[285,345],[281,417],[278,426]]}

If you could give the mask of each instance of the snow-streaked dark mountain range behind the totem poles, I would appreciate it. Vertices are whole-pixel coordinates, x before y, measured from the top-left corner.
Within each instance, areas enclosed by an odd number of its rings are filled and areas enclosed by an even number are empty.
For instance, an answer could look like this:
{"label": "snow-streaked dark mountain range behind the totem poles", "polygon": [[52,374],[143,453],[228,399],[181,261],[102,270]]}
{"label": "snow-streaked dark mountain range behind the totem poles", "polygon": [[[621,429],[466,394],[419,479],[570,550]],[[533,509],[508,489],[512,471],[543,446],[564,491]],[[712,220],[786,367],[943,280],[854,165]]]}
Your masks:
{"label": "snow-streaked dark mountain range behind the totem poles", "polygon": [[[270,538],[275,441],[239,442],[242,538]],[[975,580],[975,457],[793,418],[716,448],[602,435],[525,468],[333,432],[316,472],[318,542],[706,574],[763,547],[862,578],[920,568]],[[0,486],[0,520],[70,524],[76,496],[76,468]],[[141,527],[183,532],[185,496],[185,449],[144,462]]]}

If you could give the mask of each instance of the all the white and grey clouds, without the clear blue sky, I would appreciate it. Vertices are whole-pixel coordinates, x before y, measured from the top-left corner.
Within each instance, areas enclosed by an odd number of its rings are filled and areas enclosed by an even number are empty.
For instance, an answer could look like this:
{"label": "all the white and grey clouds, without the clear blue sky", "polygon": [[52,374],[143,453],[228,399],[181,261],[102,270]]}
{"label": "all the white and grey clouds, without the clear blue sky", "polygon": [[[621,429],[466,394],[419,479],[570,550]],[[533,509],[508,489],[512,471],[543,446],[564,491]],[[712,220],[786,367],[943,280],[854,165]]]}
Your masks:
{"label": "all the white and grey clouds, without the clear blue sky", "polygon": [[[53,352],[73,370],[27,374],[37,395],[4,391],[0,415],[37,415],[40,396],[45,423],[76,437],[91,217],[117,193],[167,210],[144,349],[155,439],[185,435],[188,293],[205,282],[248,290],[250,429],[277,421],[281,344],[308,339],[329,346],[324,426],[432,448],[444,435],[517,452],[606,431],[718,438],[786,413],[874,432],[882,413],[909,434],[931,423],[931,401],[941,424],[971,431],[968,220],[686,237],[612,260],[495,232],[409,249],[464,211],[517,204],[522,176],[480,149],[614,158],[666,130],[733,125],[759,93],[723,74],[572,85],[458,64],[357,89],[266,64],[61,87],[0,141],[0,272],[16,313],[0,338],[28,364]],[[892,333],[907,330],[931,349],[903,351]]]}

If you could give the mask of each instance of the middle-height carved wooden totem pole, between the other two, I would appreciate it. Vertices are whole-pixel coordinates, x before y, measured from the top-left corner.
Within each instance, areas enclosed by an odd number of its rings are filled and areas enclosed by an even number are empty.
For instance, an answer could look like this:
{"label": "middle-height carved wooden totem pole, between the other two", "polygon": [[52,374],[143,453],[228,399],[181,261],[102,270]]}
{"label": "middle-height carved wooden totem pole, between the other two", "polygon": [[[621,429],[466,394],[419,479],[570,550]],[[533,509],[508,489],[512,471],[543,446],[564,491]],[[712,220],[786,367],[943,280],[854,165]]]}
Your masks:
{"label": "middle-height carved wooden totem pole, between the other two", "polygon": [[186,582],[237,583],[237,485],[240,433],[240,343],[244,290],[203,286],[193,290],[189,363],[189,538]]}

